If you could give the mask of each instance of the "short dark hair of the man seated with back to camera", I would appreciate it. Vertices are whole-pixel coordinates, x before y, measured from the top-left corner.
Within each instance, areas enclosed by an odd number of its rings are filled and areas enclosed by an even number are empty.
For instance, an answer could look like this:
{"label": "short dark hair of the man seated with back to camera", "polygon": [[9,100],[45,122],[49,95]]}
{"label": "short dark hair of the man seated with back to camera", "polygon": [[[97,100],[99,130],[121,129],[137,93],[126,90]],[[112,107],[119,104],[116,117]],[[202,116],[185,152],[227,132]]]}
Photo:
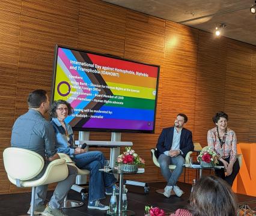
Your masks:
{"label": "short dark hair of the man seated with back to camera", "polygon": [[41,103],[47,101],[46,94],[47,92],[42,89],[30,92],[28,95],[28,107],[39,108]]}

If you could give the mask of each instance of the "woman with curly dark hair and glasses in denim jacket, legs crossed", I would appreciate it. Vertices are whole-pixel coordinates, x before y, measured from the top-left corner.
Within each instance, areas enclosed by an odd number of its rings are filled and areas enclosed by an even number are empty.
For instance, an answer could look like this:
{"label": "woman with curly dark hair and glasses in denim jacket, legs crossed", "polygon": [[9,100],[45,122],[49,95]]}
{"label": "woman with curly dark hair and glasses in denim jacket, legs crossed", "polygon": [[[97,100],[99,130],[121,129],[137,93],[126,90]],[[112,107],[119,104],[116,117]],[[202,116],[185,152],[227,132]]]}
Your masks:
{"label": "woman with curly dark hair and glasses in denim jacket, legs crossed", "polygon": [[[64,121],[72,113],[73,108],[67,101],[53,101],[50,109],[50,116],[52,117],[50,123],[55,130],[57,152],[69,155],[79,169],[90,170],[88,208],[108,210],[109,206],[103,205],[100,200],[105,199],[105,194],[112,194],[112,185],[117,182],[117,179],[112,173],[99,171],[103,168],[105,161],[102,152],[87,152],[85,149],[75,148],[72,127]],[[118,191],[119,188],[116,186],[116,192],[119,193]]]}

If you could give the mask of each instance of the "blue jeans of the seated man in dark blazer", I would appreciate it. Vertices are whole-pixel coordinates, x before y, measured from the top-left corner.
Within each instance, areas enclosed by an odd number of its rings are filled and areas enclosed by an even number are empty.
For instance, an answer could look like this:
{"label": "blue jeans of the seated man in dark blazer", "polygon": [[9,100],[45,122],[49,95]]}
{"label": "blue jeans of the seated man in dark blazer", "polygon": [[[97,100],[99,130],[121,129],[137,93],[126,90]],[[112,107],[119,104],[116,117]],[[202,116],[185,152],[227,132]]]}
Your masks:
{"label": "blue jeans of the seated man in dark blazer", "polygon": [[[165,154],[160,154],[158,162],[160,164],[162,175],[166,179],[168,186],[176,185],[178,178],[182,173],[184,161],[185,160],[181,155],[178,155],[176,157],[169,157]],[[176,168],[172,172],[169,169],[170,164],[176,166]]]}

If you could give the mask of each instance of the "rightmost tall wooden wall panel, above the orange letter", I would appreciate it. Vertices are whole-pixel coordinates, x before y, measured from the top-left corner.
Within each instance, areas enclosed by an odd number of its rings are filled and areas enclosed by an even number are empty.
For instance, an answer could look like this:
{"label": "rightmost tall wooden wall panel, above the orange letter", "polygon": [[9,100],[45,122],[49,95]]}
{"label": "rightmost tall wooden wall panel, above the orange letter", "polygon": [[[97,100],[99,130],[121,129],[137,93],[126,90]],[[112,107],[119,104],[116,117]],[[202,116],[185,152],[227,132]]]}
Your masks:
{"label": "rightmost tall wooden wall panel, above the orange letter", "polygon": [[227,45],[225,112],[238,142],[249,142],[252,50],[250,46],[233,40]]}

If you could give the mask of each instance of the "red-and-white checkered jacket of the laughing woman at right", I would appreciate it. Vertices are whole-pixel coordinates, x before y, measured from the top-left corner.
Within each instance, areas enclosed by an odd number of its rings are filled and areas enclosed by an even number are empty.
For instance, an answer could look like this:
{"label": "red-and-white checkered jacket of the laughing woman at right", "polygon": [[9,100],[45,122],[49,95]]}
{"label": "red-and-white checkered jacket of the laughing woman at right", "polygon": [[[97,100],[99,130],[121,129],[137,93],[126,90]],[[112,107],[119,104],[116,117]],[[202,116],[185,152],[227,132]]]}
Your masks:
{"label": "red-and-white checkered jacket of the laughing woman at right", "polygon": [[237,139],[236,133],[230,128],[227,128],[227,135],[225,139],[225,143],[221,148],[221,142],[219,142],[217,127],[212,128],[207,133],[207,142],[208,146],[214,149],[217,153],[218,159],[220,158],[228,158],[230,157],[230,161],[233,163],[236,162],[236,155],[237,155]]}

